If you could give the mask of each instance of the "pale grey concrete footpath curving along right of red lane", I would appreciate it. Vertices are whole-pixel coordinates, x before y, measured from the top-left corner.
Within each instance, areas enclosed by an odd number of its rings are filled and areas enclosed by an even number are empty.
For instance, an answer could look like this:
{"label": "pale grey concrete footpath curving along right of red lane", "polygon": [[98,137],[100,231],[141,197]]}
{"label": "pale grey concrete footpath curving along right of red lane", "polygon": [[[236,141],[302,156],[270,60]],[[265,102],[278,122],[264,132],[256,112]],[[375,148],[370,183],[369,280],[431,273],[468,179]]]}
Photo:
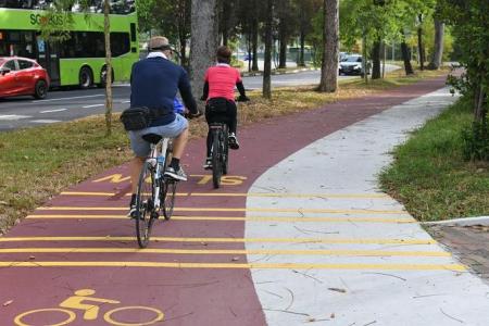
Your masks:
{"label": "pale grey concrete footpath curving along right of red lane", "polygon": [[253,184],[251,192],[304,197],[249,197],[247,206],[287,211],[294,222],[247,223],[246,237],[327,237],[247,244],[303,252],[249,256],[252,262],[310,264],[306,271],[252,269],[269,325],[489,325],[489,287],[377,186],[389,151],[453,101],[441,89],[396,105],[311,143]]}

